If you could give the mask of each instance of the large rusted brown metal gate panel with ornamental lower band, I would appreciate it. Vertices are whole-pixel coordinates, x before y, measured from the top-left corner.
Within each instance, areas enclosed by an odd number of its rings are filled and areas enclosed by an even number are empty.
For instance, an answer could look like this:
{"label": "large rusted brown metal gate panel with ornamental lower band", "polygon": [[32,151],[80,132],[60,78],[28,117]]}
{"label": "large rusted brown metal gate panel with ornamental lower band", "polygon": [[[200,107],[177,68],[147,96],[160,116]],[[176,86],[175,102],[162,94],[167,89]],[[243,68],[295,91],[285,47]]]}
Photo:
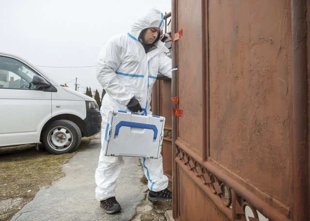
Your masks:
{"label": "large rusted brown metal gate panel with ornamental lower band", "polygon": [[309,220],[306,6],[172,0],[175,220]]}

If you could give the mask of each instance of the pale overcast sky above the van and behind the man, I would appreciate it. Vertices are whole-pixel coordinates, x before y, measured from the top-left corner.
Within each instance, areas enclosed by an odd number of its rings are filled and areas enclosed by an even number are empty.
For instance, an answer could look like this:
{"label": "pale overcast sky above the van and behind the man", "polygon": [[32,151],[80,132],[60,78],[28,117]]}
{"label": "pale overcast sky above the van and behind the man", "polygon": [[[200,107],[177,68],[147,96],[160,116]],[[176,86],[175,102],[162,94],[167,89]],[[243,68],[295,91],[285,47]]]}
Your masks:
{"label": "pale overcast sky above the van and behind the man", "polygon": [[[156,7],[171,11],[170,0],[0,0],[0,52],[18,55],[79,92],[102,87],[95,66],[103,44],[127,33]],[[51,66],[51,67],[50,67]],[[55,68],[80,67],[84,68]],[[53,68],[52,68],[53,67]]]}

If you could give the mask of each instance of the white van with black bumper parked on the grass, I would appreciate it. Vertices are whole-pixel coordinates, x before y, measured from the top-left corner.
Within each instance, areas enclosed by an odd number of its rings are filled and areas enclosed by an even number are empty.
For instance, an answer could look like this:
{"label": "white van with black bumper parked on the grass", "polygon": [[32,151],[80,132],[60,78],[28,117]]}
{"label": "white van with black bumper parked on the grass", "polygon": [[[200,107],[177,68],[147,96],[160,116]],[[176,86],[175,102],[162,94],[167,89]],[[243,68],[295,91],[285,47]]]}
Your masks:
{"label": "white van with black bumper parked on the grass", "polygon": [[60,86],[24,59],[0,53],[0,147],[42,142],[50,153],[67,153],[100,128],[93,98]]}

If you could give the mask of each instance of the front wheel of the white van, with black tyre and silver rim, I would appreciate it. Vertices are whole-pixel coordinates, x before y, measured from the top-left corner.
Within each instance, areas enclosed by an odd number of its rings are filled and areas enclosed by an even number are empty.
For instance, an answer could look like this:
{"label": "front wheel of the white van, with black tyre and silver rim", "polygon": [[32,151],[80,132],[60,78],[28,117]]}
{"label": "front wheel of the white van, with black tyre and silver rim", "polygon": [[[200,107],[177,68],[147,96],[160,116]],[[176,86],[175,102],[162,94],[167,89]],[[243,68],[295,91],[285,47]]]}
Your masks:
{"label": "front wheel of the white van, with black tyre and silver rim", "polygon": [[70,120],[55,120],[43,133],[43,144],[53,154],[71,153],[81,143],[82,133]]}

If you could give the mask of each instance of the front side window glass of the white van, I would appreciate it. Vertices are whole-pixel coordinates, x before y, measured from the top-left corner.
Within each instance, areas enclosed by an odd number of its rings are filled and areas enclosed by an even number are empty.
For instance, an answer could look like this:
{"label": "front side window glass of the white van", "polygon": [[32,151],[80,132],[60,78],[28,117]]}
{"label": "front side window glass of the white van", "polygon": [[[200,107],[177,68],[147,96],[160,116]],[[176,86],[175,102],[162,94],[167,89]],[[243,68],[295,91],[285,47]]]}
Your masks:
{"label": "front side window glass of the white van", "polygon": [[0,89],[35,90],[39,87],[32,85],[34,73],[22,62],[0,56]]}

